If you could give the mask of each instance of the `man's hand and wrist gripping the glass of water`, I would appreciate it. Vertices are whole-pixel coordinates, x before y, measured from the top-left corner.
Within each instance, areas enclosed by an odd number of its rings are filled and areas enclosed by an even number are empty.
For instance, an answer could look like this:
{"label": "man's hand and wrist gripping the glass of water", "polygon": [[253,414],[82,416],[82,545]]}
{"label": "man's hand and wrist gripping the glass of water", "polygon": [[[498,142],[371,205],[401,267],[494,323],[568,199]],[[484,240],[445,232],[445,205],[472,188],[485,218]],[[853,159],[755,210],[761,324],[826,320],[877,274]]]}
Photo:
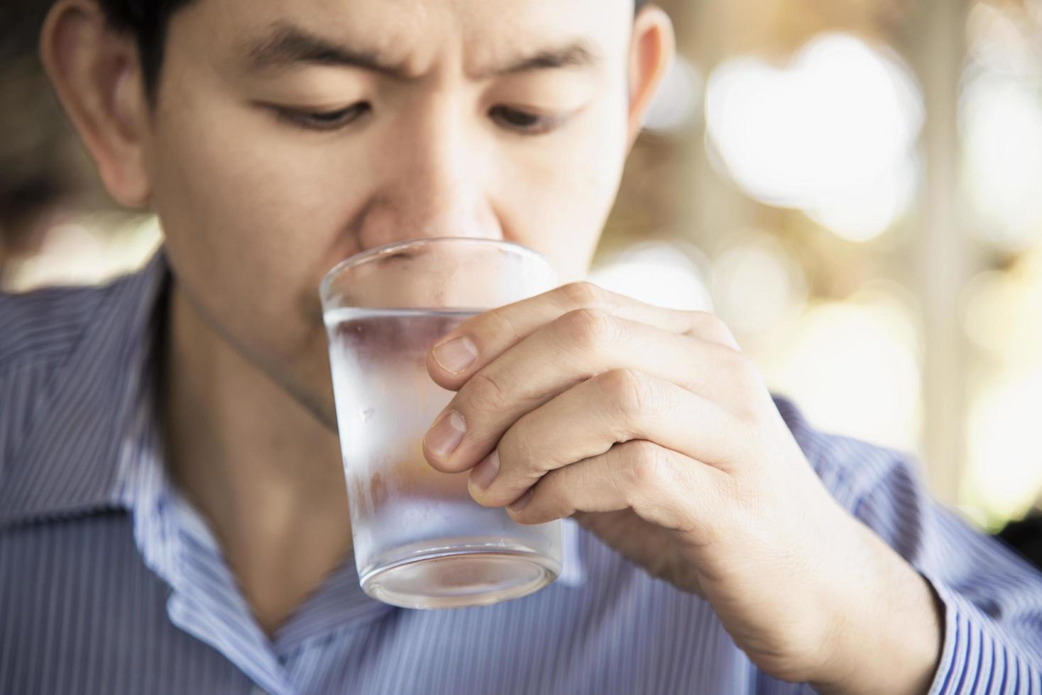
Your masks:
{"label": "man's hand and wrist gripping the glass of water", "polygon": [[574,516],[776,677],[926,691],[932,589],[828,495],[715,316],[571,284],[464,321],[427,367],[457,393],[425,456],[479,504]]}

